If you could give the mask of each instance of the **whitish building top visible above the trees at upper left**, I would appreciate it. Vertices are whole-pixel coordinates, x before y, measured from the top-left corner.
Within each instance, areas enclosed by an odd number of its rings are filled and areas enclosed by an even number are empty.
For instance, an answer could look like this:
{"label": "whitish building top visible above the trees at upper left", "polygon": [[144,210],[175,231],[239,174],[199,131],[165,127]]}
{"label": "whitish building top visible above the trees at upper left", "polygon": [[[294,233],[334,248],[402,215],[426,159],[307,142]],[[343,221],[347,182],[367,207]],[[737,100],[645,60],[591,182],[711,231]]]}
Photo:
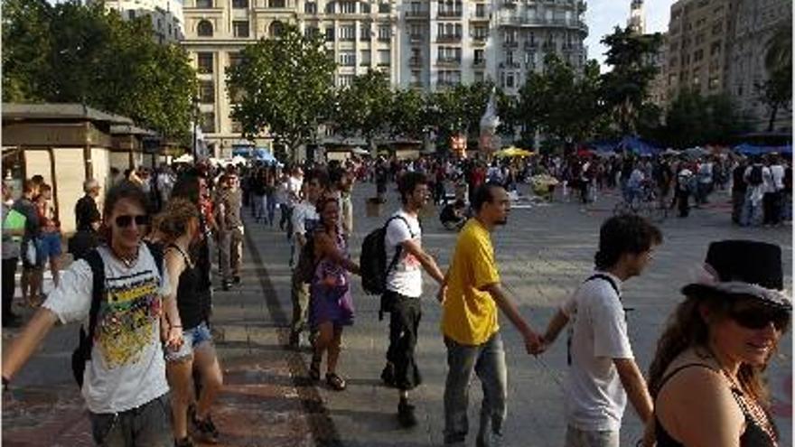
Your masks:
{"label": "whitish building top visible above the trees at upper left", "polygon": [[182,0],[104,0],[105,7],[125,20],[149,16],[158,43],[180,42],[184,38]]}

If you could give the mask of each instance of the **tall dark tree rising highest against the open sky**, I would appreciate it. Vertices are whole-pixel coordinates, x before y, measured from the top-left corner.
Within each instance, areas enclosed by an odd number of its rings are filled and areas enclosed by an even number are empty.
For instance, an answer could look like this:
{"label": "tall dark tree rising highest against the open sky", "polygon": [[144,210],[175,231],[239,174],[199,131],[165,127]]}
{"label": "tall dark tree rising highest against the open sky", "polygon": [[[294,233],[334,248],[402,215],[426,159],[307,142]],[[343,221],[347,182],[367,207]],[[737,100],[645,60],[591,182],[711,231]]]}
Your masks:
{"label": "tall dark tree rising highest against the open sky", "polygon": [[634,134],[650,82],[658,72],[653,60],[662,36],[616,27],[601,42],[608,47],[606,62],[612,67],[602,76],[605,105],[613,111],[613,119],[622,134]]}

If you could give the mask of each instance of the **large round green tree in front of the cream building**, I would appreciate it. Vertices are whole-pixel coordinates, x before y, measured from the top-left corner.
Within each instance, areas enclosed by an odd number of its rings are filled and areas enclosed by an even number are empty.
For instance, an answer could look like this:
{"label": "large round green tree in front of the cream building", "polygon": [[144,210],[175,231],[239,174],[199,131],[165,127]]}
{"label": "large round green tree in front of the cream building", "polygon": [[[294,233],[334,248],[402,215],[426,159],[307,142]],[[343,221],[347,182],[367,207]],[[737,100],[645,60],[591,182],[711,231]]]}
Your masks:
{"label": "large round green tree in front of the cream building", "polygon": [[249,45],[242,56],[228,74],[229,96],[237,99],[231,116],[249,138],[267,129],[295,159],[297,147],[331,117],[331,51],[323,36],[286,25],[280,36]]}

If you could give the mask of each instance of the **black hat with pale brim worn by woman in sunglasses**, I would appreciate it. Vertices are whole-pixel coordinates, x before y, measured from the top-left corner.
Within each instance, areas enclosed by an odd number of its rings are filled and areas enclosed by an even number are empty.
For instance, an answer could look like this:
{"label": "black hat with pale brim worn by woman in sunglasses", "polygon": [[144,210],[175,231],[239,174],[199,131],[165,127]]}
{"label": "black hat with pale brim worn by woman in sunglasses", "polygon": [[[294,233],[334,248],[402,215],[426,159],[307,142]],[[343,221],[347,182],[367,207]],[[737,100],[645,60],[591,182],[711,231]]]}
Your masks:
{"label": "black hat with pale brim worn by woman in sunglasses", "polygon": [[790,297],[783,290],[781,247],[754,240],[722,240],[709,245],[696,282],[684,286],[682,293],[748,296],[791,311]]}

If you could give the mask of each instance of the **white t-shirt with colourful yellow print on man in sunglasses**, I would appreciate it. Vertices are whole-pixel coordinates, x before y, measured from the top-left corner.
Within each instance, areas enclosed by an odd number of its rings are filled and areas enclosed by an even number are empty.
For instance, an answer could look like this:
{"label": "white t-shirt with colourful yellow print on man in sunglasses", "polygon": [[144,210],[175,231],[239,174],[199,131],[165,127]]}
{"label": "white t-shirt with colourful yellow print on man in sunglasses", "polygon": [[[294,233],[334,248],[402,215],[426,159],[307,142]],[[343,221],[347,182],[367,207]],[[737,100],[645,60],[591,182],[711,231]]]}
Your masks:
{"label": "white t-shirt with colourful yellow print on man in sunglasses", "polygon": [[[98,250],[105,264],[106,296],[99,307],[82,394],[92,413],[118,413],[168,392],[160,313],[170,286],[167,271],[163,270],[162,278],[158,275],[145,245],[130,268],[112,256],[108,247]],[[83,321],[88,331],[92,278],[89,264],[75,261],[42,306],[62,323]]]}

